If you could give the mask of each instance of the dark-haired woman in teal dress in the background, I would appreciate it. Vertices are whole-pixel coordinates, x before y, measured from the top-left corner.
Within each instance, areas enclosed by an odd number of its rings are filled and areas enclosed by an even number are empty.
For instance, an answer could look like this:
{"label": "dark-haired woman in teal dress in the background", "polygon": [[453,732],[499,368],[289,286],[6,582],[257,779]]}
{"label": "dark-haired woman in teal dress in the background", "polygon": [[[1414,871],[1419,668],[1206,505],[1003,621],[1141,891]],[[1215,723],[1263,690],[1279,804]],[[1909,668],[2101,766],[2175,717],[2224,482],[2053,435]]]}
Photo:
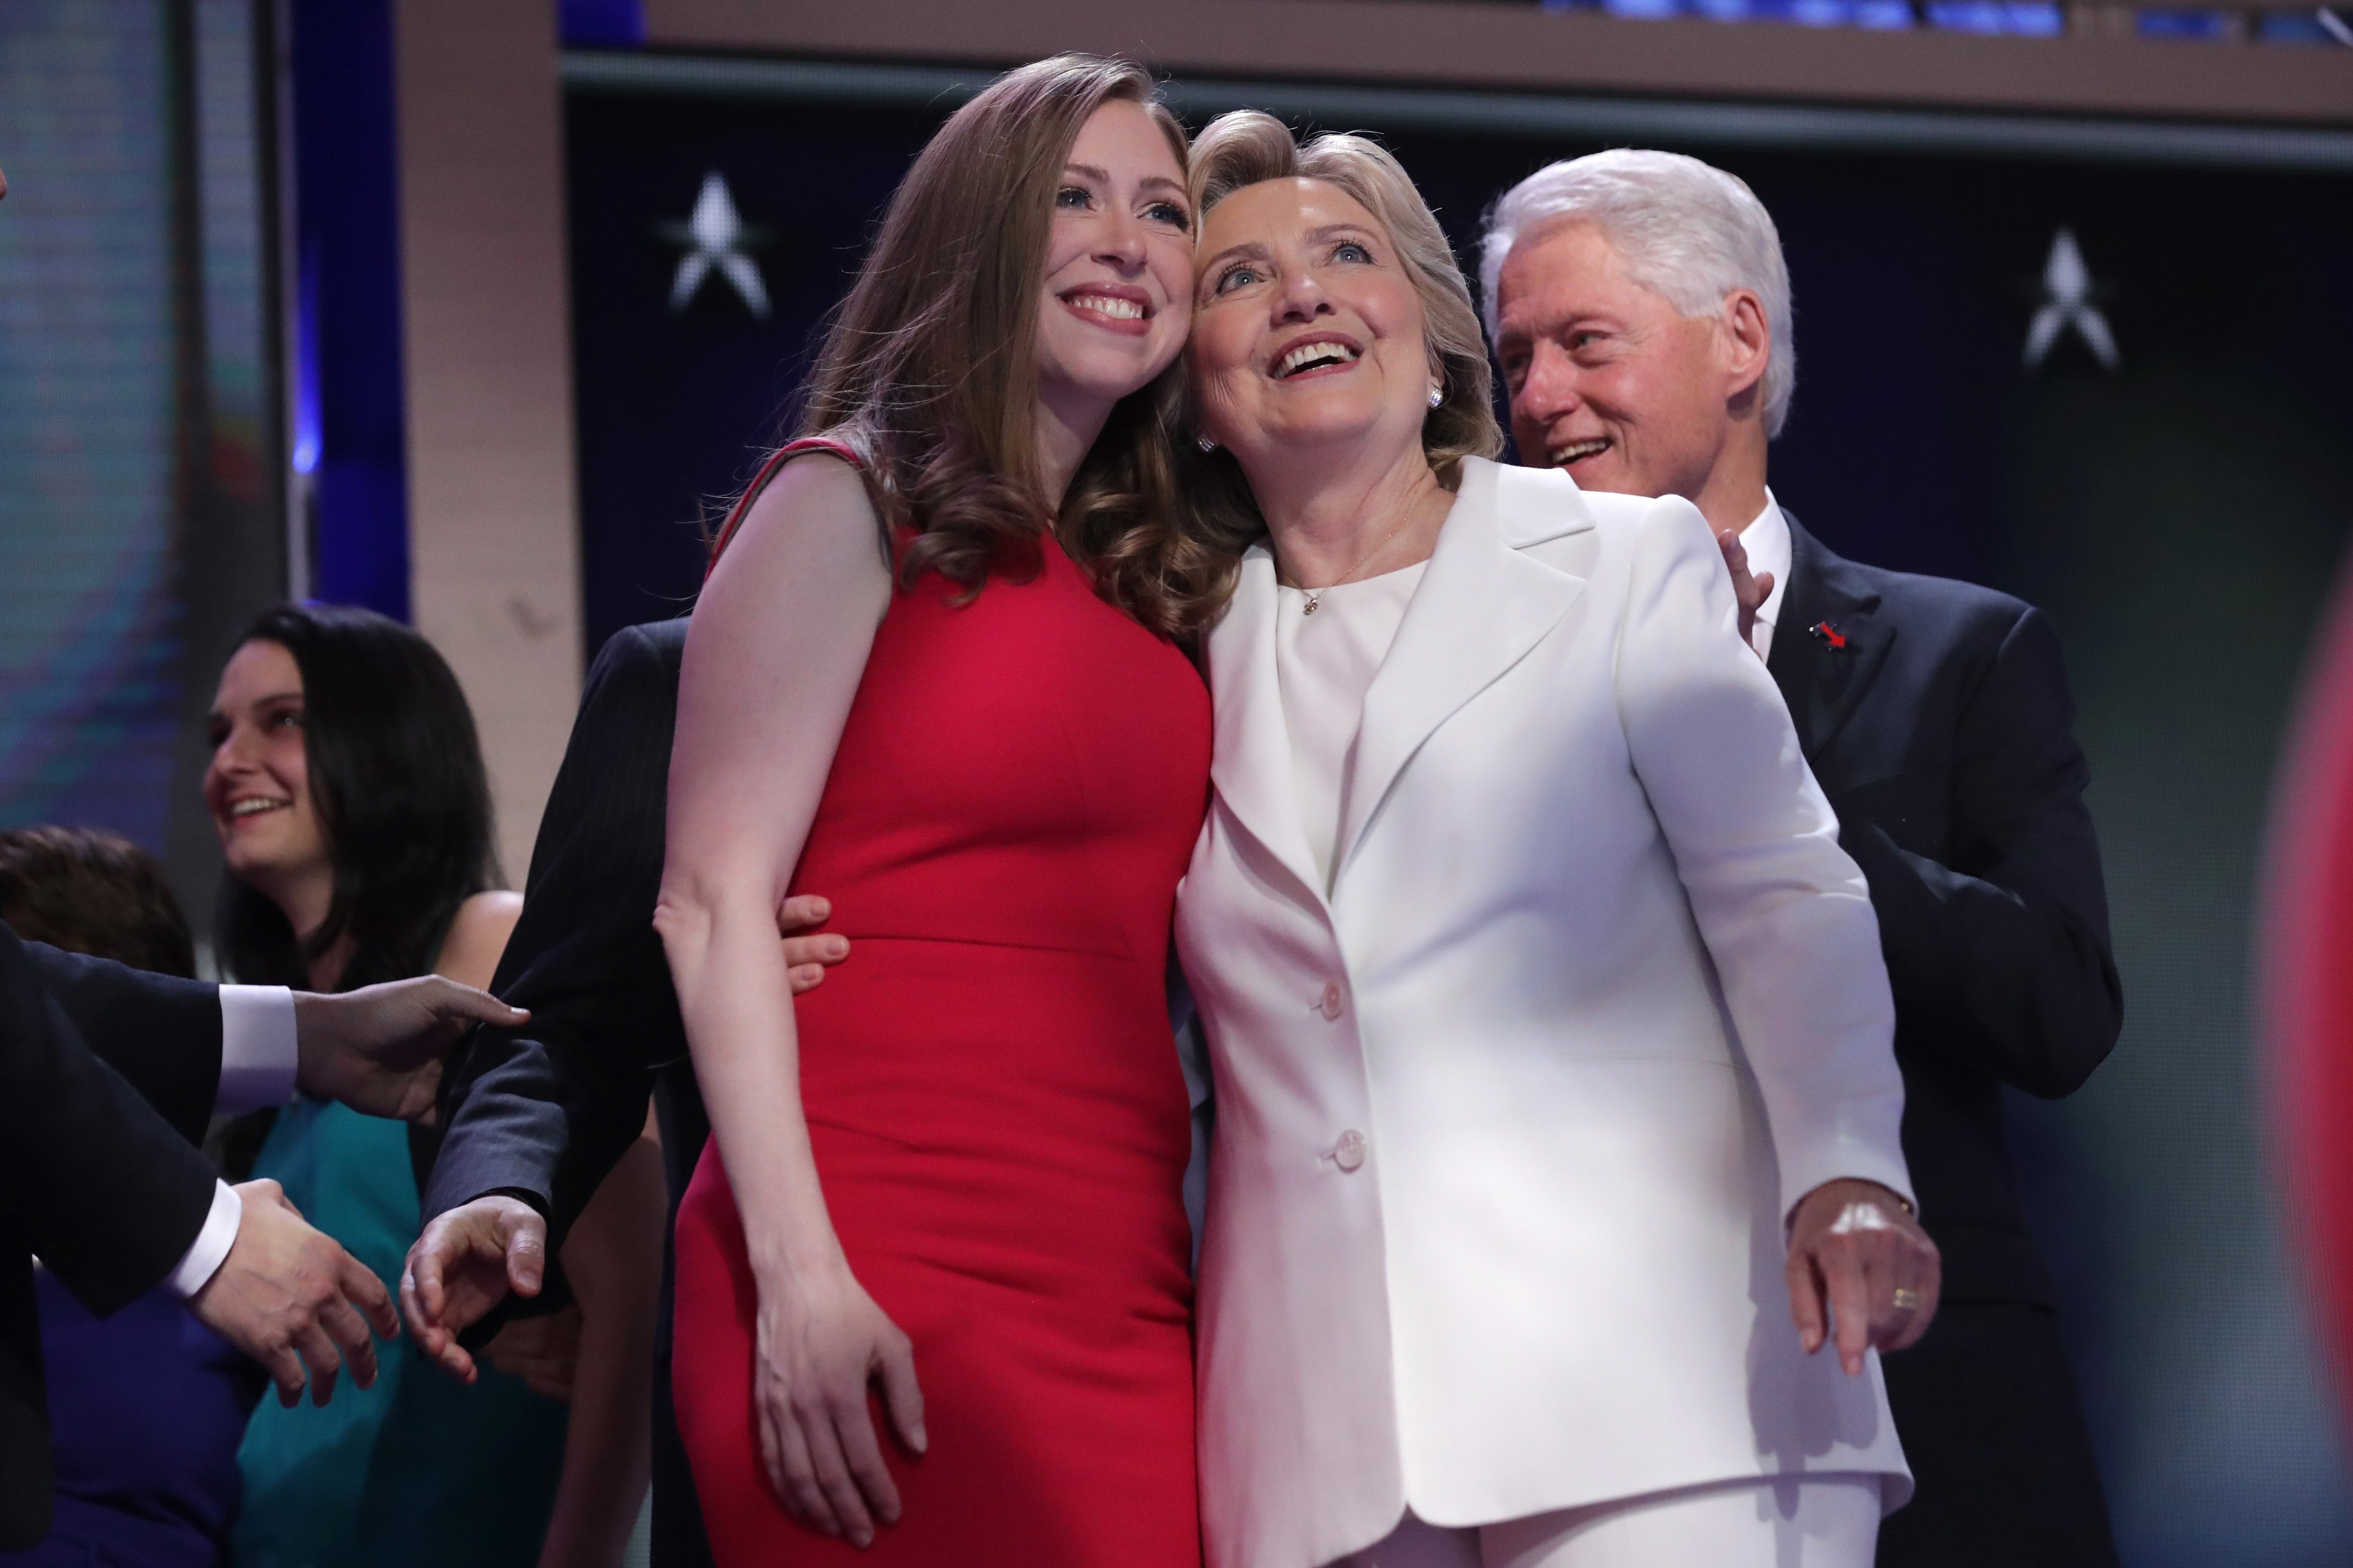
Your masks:
{"label": "dark-haired woman in teal dress in the background", "polygon": [[[522,898],[494,891],[473,715],[424,637],[358,609],[266,611],[221,672],[212,745],[226,971],[308,990],[426,971],[489,985]],[[428,1133],[414,1138],[412,1154],[412,1128],[296,1095],[252,1173],[275,1178],[381,1279],[400,1279],[428,1159]],[[576,1319],[576,1378],[598,1385],[581,1420],[562,1401],[572,1335],[555,1319],[511,1331],[532,1345],[494,1345],[473,1385],[409,1356],[407,1340],[384,1345],[372,1389],[254,1413],[238,1450],[238,1568],[616,1561],[649,1465],[652,1368],[638,1347],[661,1267],[659,1227],[638,1220],[647,1206],[614,1192],[631,1180],[659,1182],[654,1161],[624,1161],[574,1227],[581,1246],[565,1246],[607,1274],[574,1279],[600,1305]],[[645,1234],[602,1234],[616,1225]],[[525,1382],[501,1361],[546,1375]]]}

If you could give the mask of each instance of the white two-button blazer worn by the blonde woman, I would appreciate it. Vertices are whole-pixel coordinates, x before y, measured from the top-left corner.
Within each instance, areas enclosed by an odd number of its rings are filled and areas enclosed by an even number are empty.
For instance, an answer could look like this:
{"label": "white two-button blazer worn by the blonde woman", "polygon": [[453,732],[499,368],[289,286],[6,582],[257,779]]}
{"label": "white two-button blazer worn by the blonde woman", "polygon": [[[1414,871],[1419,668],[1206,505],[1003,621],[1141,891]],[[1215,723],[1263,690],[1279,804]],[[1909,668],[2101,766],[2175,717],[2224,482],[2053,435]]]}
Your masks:
{"label": "white two-button blazer worn by the blonde woman", "polygon": [[1878,1359],[1807,1359],[1784,1220],[1911,1197],[1864,877],[1678,498],[1464,463],[1365,696],[1329,898],[1275,569],[1209,637],[1176,943],[1217,1074],[1200,1267],[1212,1568],[1880,1472]]}

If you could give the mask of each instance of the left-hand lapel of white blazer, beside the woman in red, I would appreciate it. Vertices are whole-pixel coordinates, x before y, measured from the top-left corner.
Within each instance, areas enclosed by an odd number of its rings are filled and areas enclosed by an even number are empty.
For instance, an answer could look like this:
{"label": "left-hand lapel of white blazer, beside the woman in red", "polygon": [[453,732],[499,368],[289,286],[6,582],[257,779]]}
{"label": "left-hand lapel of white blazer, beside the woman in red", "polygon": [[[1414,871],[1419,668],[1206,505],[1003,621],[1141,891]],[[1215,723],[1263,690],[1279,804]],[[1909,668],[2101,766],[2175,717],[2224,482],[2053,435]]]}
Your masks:
{"label": "left-hand lapel of white blazer, beside the woman in red", "polygon": [[1224,618],[1209,630],[1209,696],[1217,752],[1209,780],[1235,820],[1282,863],[1315,905],[1322,879],[1299,818],[1292,731],[1282,719],[1275,675],[1275,557],[1264,543],[1242,555],[1242,576]]}

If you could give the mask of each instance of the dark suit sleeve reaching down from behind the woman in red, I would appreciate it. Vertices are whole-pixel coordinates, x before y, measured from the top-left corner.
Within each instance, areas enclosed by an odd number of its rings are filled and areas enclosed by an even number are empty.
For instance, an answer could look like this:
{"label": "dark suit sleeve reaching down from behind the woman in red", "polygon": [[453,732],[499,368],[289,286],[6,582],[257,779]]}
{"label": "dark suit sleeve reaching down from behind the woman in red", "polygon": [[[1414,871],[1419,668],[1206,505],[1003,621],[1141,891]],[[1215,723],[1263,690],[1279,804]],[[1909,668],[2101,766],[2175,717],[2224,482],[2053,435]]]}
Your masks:
{"label": "dark suit sleeve reaching down from behind the woman in red", "polygon": [[588,672],[492,985],[532,1023],[478,1030],[456,1065],[426,1218],[511,1192],[558,1251],[645,1128],[654,1070],[685,1051],[654,936],[675,715],[675,668],[638,628],[616,635]]}

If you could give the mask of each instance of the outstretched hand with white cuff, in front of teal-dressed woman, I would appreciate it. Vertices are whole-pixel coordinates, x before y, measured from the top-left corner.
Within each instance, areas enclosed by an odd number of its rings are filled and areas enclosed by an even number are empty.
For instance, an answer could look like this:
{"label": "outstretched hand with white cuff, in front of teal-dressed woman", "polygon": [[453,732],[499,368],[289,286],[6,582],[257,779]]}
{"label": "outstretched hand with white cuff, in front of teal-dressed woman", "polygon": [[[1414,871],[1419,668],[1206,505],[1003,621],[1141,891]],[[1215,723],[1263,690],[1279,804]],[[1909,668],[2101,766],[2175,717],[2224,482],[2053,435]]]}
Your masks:
{"label": "outstretched hand with white cuff, in front of teal-dressed woman", "polygon": [[442,976],[339,997],[294,992],[294,1084],[315,1100],[414,1121],[433,1110],[440,1058],[459,1034],[478,1023],[527,1020],[522,1009]]}

